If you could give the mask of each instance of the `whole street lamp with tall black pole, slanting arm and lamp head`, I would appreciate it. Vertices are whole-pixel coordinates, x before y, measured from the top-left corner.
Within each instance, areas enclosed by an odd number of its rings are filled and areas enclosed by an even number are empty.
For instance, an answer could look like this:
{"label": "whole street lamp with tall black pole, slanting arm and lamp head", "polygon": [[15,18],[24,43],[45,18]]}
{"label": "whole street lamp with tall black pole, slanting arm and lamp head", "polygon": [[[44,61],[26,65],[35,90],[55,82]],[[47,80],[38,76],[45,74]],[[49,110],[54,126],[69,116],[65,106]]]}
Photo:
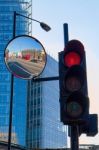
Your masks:
{"label": "whole street lamp with tall black pole, slanting arm and lamp head", "polygon": [[[45,30],[46,32],[50,31],[51,28],[50,26],[48,26],[46,23],[44,22],[40,22],[36,19],[33,19],[33,18],[30,18],[30,17],[27,17],[27,16],[24,16],[22,14],[19,14],[19,13],[16,13],[16,11],[14,11],[14,16],[13,16],[13,38],[15,38],[15,33],[16,33],[16,16],[21,16],[21,17],[24,17],[24,18],[27,18],[27,19],[30,19],[32,21],[35,21],[37,23],[40,24],[41,28],[43,30]],[[13,86],[13,83],[14,83],[14,75],[11,74],[11,92],[10,92],[10,112],[9,112],[9,131],[8,131],[8,150],[11,149],[11,133],[12,133],[12,114],[13,114],[13,89],[14,89],[14,86]]]}

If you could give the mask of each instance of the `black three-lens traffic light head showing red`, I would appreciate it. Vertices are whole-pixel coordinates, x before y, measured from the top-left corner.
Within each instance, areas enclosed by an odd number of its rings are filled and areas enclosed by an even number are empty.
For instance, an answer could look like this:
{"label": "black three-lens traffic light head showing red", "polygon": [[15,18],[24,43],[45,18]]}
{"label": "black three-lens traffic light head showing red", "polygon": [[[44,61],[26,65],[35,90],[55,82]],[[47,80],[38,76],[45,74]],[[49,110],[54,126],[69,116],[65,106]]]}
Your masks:
{"label": "black three-lens traffic light head showing red", "polygon": [[69,41],[59,53],[59,87],[61,121],[65,125],[87,123],[86,56],[84,46],[78,40]]}

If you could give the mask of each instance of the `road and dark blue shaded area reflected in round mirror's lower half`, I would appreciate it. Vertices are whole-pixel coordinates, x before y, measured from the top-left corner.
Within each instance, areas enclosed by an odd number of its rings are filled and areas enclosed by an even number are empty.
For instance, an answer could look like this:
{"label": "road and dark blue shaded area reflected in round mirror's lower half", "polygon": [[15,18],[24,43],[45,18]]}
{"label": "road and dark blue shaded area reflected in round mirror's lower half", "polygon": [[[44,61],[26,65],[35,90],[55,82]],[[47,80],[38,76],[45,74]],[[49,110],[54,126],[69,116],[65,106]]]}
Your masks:
{"label": "road and dark blue shaded area reflected in round mirror's lower half", "polygon": [[9,59],[7,64],[12,72],[23,78],[29,78],[31,75],[32,77],[37,76],[45,65],[44,62],[34,63],[20,58]]}

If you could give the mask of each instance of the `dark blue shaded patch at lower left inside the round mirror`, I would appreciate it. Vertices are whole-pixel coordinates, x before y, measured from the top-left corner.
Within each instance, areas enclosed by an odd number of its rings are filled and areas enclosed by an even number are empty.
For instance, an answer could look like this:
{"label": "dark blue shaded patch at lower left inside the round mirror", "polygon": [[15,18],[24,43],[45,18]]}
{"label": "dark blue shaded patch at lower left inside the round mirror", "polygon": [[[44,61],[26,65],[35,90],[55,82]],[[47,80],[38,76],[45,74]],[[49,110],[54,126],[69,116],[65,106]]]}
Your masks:
{"label": "dark blue shaded patch at lower left inside the round mirror", "polygon": [[28,72],[25,68],[23,68],[19,63],[9,62],[8,66],[15,76],[22,78],[31,78],[31,73]]}

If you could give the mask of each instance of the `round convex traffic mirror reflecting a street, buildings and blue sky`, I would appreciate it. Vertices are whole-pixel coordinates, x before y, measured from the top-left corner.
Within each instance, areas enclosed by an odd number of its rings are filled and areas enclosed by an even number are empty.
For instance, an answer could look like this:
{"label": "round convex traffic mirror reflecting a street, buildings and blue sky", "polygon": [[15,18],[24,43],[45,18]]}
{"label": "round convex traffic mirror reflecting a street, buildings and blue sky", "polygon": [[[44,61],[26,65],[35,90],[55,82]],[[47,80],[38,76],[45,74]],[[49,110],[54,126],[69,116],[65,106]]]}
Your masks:
{"label": "round convex traffic mirror reflecting a street, buildings and blue sky", "polygon": [[5,63],[14,76],[32,79],[39,76],[46,65],[45,49],[31,36],[18,36],[5,49]]}

